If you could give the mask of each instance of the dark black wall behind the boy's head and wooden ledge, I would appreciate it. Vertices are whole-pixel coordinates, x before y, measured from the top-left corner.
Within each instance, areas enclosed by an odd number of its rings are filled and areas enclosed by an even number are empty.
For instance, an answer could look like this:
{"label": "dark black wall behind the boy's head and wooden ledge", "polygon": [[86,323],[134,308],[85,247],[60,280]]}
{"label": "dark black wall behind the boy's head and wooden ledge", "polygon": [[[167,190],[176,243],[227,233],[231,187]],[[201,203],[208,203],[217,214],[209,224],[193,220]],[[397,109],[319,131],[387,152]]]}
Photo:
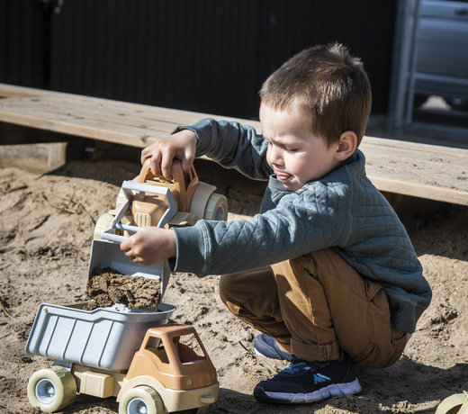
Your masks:
{"label": "dark black wall behind the boy's head and wooden ledge", "polygon": [[396,3],[0,0],[0,82],[257,118],[266,76],[338,40],[363,58],[384,113]]}

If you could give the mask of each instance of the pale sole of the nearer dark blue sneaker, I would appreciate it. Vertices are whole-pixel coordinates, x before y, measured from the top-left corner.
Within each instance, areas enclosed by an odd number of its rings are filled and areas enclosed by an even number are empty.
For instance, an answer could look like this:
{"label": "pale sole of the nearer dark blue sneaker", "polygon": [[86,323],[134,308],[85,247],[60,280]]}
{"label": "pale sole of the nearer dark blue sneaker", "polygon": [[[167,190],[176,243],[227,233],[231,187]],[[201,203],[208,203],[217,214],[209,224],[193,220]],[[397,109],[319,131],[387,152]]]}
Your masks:
{"label": "pale sole of the nearer dark blue sneaker", "polygon": [[332,383],[328,387],[303,394],[266,392],[262,388],[256,388],[254,390],[254,397],[258,401],[273,402],[275,404],[304,404],[307,402],[322,401],[330,397],[338,397],[338,395],[352,395],[361,392],[361,390],[361,385],[356,378],[356,380],[351,383]]}

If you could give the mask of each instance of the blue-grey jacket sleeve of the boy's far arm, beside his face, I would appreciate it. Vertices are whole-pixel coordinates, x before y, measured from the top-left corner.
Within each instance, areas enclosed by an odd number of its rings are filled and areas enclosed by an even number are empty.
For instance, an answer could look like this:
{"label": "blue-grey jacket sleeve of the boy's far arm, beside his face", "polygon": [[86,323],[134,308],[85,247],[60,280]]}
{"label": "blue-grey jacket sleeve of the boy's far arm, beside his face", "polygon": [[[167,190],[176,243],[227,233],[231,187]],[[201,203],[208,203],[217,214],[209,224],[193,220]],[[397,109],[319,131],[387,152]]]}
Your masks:
{"label": "blue-grey jacket sleeve of the boy's far arm, beside his face", "polygon": [[250,178],[266,180],[272,174],[266,163],[266,140],[250,126],[234,121],[198,121],[178,130],[193,130],[198,143],[196,156],[210,157],[221,166],[236,168]]}

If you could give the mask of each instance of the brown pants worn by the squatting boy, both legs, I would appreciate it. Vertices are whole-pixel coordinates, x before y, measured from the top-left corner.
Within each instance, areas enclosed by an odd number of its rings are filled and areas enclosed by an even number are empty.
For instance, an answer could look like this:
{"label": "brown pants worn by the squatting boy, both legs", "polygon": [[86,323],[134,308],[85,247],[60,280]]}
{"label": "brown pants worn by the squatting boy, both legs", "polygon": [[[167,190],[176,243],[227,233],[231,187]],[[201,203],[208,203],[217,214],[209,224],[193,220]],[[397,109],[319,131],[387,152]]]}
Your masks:
{"label": "brown pants worn by the squatting boy, both legs", "polygon": [[396,362],[407,334],[390,320],[387,294],[331,249],[271,268],[224,275],[220,297],[229,311],[307,361],[338,359],[382,368]]}

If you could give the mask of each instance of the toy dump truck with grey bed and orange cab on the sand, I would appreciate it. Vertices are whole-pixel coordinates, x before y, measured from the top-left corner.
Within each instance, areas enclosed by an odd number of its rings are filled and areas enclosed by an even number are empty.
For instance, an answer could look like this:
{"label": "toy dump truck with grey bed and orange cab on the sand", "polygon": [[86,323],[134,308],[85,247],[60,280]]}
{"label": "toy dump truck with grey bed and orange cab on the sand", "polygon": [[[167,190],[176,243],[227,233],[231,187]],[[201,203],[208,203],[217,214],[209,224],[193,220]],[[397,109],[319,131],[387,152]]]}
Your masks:
{"label": "toy dump truck with grey bed and orange cab on the sand", "polygon": [[166,325],[174,307],[161,304],[157,312],[79,308],[40,305],[25,351],[55,363],[32,374],[33,407],[62,410],[76,392],[116,397],[120,414],[204,412],[217,400],[216,370],[195,329]]}

